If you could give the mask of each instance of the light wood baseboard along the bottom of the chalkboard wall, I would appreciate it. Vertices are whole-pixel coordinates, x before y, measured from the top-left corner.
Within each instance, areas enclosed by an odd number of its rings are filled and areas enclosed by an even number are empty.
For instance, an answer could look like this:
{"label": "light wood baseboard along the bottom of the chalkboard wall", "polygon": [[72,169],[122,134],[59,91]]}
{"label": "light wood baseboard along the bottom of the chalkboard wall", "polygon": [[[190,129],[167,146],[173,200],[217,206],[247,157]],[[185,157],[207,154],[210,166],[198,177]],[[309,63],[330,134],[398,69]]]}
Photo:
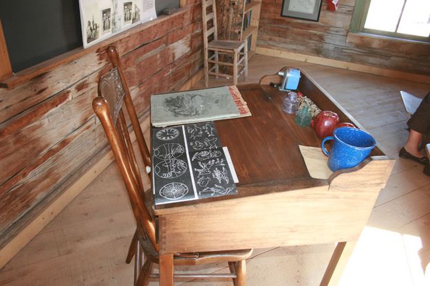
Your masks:
{"label": "light wood baseboard along the bottom of the chalkboard wall", "polygon": [[[190,89],[203,78],[203,70],[200,69],[196,72],[189,80],[182,85],[180,90]],[[149,120],[144,120],[142,125],[147,125]],[[144,127],[142,126],[142,129]],[[136,137],[131,134],[131,140],[135,141]],[[0,268],[2,268],[10,259],[12,259],[17,253],[29,243],[34,236],[36,236],[45,226],[54,219],[74,198],[76,198],[80,192],[82,192],[89,184],[91,184],[100,173],[114,161],[114,154],[112,151],[107,152],[103,155],[98,162],[87,170],[81,177],[79,177],[73,184],[71,184],[61,195],[59,195],[52,203],[50,203],[45,210],[28,223],[13,239],[11,239],[4,248],[0,250]]]}

